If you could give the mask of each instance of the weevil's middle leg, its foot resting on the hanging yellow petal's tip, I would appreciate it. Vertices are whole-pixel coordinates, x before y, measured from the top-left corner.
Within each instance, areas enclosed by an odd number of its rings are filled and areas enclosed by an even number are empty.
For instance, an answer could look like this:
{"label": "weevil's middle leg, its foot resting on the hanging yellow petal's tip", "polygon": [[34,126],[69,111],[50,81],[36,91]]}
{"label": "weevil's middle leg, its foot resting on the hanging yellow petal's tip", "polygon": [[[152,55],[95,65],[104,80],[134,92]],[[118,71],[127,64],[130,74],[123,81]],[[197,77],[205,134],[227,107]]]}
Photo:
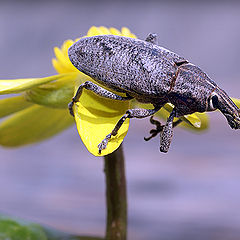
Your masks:
{"label": "weevil's middle leg, its foot resting on the hanging yellow petal's tip", "polygon": [[142,108],[136,108],[136,109],[129,109],[126,111],[126,113],[119,119],[116,126],[112,130],[110,134],[108,134],[103,141],[98,144],[98,150],[99,154],[101,154],[101,151],[107,147],[108,141],[112,136],[116,136],[118,133],[118,130],[123,125],[125,120],[127,118],[145,118],[153,115],[156,113],[162,106],[156,106],[154,109],[142,109]]}

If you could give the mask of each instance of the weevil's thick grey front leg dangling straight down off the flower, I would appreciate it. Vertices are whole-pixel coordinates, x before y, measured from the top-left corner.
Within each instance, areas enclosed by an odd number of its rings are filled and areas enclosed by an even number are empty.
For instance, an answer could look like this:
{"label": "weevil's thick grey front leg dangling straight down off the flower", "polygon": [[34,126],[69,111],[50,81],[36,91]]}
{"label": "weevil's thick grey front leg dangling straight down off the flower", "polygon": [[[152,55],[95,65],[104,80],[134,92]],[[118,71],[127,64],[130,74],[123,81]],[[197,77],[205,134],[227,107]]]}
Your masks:
{"label": "weevil's thick grey front leg dangling straight down off the flower", "polygon": [[176,109],[170,113],[170,116],[167,119],[166,125],[163,127],[163,131],[160,135],[160,151],[168,152],[170,147],[172,137],[173,137],[173,119],[176,116]]}

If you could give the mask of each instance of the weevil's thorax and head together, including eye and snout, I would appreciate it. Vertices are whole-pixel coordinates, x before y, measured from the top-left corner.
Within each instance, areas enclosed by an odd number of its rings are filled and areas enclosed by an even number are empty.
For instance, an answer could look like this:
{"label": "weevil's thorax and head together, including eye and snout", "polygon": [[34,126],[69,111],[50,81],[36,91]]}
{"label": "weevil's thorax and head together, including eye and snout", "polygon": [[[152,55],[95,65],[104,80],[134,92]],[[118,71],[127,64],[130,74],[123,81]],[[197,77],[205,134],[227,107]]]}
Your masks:
{"label": "weevil's thorax and head together, including eye and snout", "polygon": [[220,110],[231,128],[240,129],[240,110],[217,84],[197,66],[187,63],[178,68],[169,100],[180,115]]}

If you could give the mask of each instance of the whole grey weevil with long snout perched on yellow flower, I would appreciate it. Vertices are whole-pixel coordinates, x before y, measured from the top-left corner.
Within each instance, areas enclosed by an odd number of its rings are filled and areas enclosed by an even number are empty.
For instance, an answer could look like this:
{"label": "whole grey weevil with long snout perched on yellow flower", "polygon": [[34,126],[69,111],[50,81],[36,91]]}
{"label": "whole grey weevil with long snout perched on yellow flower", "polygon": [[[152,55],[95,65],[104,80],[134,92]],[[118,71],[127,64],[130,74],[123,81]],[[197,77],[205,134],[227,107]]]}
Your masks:
{"label": "whole grey weevil with long snout perched on yellow flower", "polygon": [[69,48],[68,55],[79,71],[108,89],[125,93],[123,97],[86,81],[69,103],[71,115],[74,116],[73,105],[79,101],[83,88],[114,100],[135,98],[154,107],[127,110],[98,145],[99,153],[107,147],[111,137],[117,135],[127,118],[153,116],[166,103],[174,105],[166,124],[161,126],[151,117],[150,122],[156,125],[156,129],[145,138],[149,140],[160,133],[161,152],[168,152],[173,127],[181,122],[174,122],[175,117],[219,109],[231,128],[240,128],[240,110],[227,93],[186,58],[158,46],[156,34],[149,34],[145,41],[115,35],[85,37]]}

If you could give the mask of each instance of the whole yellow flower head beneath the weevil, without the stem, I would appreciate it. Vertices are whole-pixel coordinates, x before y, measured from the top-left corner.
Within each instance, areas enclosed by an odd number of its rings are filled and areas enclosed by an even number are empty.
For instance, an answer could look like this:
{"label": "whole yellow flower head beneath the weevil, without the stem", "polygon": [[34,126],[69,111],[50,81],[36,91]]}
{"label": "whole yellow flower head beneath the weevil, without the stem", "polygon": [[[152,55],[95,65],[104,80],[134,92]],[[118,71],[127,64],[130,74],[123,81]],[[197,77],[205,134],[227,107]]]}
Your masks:
{"label": "whole yellow flower head beneath the weevil, without the stem", "polygon": [[[86,36],[103,34],[136,37],[127,28],[118,31],[115,28],[105,27],[91,27]],[[19,93],[18,96],[0,100],[0,117],[7,117],[0,124],[1,145],[16,147],[44,140],[74,123],[67,104],[81,83],[86,80],[94,81],[79,72],[68,58],[68,48],[75,41],[67,40],[61,48],[54,48],[56,58],[52,60],[52,64],[58,72],[57,75],[45,78],[0,80],[0,94]],[[134,105],[134,102],[131,104]],[[111,138],[101,154],[98,153],[97,146],[113,130],[129,107],[130,101],[105,99],[83,90],[80,101],[74,105],[75,123],[89,152],[95,156],[103,156],[119,147],[127,134],[129,120],[125,121],[118,134]],[[171,109],[172,106],[167,104],[157,115],[166,117]],[[192,129],[203,130],[208,125],[205,114],[196,113],[181,119]]]}

